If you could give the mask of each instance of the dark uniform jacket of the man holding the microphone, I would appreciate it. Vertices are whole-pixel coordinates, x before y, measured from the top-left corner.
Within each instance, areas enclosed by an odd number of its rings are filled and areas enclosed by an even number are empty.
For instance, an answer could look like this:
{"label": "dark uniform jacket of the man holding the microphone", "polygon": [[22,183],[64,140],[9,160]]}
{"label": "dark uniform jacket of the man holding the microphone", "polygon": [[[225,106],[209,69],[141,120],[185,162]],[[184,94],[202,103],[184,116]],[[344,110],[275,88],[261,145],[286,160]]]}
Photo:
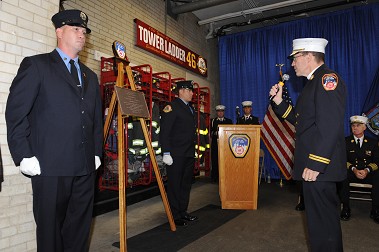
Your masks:
{"label": "dark uniform jacket of the man holding the microphone", "polygon": [[295,109],[284,101],[273,105],[275,113],[296,128],[294,179],[302,180],[304,168],[319,171],[318,181],[346,178],[345,101],[344,81],[321,65],[306,83]]}

